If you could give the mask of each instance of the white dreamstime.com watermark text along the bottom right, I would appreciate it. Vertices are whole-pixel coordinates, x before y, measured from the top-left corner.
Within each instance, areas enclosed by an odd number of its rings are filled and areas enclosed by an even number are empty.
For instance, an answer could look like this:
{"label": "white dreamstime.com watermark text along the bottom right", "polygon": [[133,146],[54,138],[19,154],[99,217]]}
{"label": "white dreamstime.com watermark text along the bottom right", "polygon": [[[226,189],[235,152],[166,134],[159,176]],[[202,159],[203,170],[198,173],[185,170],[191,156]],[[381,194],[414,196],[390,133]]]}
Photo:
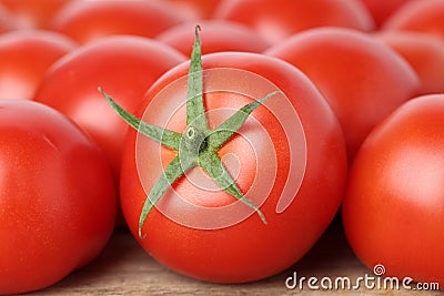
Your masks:
{"label": "white dreamstime.com watermark text along the bottom right", "polygon": [[365,274],[356,278],[347,276],[337,277],[297,277],[294,272],[292,276],[285,279],[285,287],[287,289],[311,289],[311,290],[333,290],[333,289],[349,289],[356,290],[364,289],[406,289],[406,290],[438,290],[438,283],[417,283],[412,277],[383,277],[385,267],[377,264],[373,268],[373,275]]}

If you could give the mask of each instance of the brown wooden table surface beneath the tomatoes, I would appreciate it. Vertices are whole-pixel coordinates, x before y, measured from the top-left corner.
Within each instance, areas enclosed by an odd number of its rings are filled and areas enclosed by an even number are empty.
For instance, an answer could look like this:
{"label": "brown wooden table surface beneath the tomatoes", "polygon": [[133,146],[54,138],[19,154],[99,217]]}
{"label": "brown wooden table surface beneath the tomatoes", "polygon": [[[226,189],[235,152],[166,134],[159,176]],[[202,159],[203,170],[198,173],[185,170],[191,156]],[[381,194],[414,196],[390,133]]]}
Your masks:
{"label": "brown wooden table surface beneath the tomatoes", "polygon": [[[54,286],[29,295],[440,295],[438,292],[400,289],[367,289],[363,285],[353,289],[312,290],[289,289],[285,279],[315,276],[350,277],[374,276],[365,268],[346,244],[340,222],[335,221],[313,249],[295,266],[272,278],[242,285],[218,285],[178,275],[152,259],[125,231],[117,231],[104,252],[81,271]],[[443,294],[444,295],[444,294]]]}

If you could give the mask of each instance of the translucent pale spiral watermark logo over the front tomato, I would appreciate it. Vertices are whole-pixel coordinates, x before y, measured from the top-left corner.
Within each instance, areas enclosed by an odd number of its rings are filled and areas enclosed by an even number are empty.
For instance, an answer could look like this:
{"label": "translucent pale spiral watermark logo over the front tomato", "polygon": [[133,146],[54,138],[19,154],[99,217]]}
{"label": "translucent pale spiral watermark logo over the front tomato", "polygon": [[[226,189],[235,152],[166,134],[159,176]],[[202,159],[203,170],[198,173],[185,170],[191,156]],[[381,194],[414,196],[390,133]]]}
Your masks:
{"label": "translucent pale spiral watermark logo over the front tomato", "polygon": [[[279,170],[287,170],[285,185],[275,206],[275,213],[283,213],[296,197],[306,167],[306,139],[292,102],[275,84],[253,72],[225,68],[209,69],[202,72],[202,76],[203,95],[213,98],[213,105],[206,108],[205,111],[205,115],[211,119],[212,127],[218,126],[235,113],[236,109],[230,108],[230,105],[236,101],[249,102],[260,100],[271,93],[279,93],[260,108],[265,108],[266,112],[272,114],[269,119],[278,122],[275,125],[280,126],[280,131],[271,131],[269,122],[256,119],[253,111],[235,135],[238,143],[241,142],[241,151],[231,150],[221,159],[236,184],[245,175],[245,171],[254,172],[253,178],[249,181],[249,186],[244,187],[242,193],[258,207],[266,201],[273,190],[280,173]],[[183,133],[183,127],[186,125],[188,81],[189,75],[184,75],[159,91],[145,109],[142,121]],[[229,103],[214,108],[214,105],[218,106],[218,100],[226,100]],[[279,143],[275,143],[275,135],[272,140],[273,136],[270,133],[273,132],[282,135]],[[287,169],[278,163],[276,147],[279,146],[276,144],[285,146],[289,151]],[[147,193],[153,187],[157,181],[155,176],[160,176],[165,164],[172,161],[164,147],[140,133],[135,142],[135,160],[139,177]],[[147,170],[148,165],[150,172]],[[188,186],[188,190],[183,192],[195,192],[196,195],[203,196],[224,190],[199,167],[191,169],[183,177],[185,180],[181,181],[181,186]],[[243,182],[245,184],[245,181]],[[154,206],[170,220],[199,229],[229,227],[255,213],[252,207],[245,206],[239,201],[221,206],[205,206],[204,202],[194,204],[186,196],[181,196],[180,191],[174,187],[171,187]],[[174,210],[178,207],[181,211]],[[195,215],[183,215],[183,213],[195,213]]]}

